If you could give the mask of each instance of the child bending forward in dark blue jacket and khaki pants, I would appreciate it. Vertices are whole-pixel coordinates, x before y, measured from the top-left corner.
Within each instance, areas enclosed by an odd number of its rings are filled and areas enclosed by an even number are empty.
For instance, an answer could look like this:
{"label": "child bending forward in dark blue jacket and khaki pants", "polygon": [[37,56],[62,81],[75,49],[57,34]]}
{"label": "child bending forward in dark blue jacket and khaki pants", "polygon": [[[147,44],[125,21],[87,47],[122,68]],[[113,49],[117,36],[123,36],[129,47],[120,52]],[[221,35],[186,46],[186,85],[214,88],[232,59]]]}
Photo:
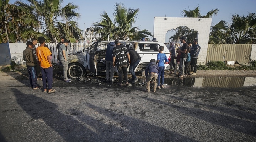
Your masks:
{"label": "child bending forward in dark blue jacket and khaki pants", "polygon": [[153,80],[153,92],[156,91],[156,79],[158,78],[159,68],[158,64],[156,64],[155,59],[150,60],[150,64],[146,67],[145,74],[146,74],[146,90],[145,92],[150,92],[150,81]]}

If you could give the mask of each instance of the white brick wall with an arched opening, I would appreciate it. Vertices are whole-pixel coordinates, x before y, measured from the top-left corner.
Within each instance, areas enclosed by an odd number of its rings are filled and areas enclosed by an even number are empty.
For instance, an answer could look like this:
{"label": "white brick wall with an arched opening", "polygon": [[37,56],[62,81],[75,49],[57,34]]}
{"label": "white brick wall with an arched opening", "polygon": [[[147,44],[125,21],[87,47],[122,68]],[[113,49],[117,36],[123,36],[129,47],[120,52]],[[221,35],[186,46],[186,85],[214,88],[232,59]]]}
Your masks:
{"label": "white brick wall with an arched opening", "polygon": [[[168,30],[180,26],[187,26],[198,31],[198,44],[201,46],[197,64],[205,65],[212,18],[178,18],[178,17],[154,17],[154,38],[159,42],[165,42]],[[201,19],[201,20],[199,20]]]}

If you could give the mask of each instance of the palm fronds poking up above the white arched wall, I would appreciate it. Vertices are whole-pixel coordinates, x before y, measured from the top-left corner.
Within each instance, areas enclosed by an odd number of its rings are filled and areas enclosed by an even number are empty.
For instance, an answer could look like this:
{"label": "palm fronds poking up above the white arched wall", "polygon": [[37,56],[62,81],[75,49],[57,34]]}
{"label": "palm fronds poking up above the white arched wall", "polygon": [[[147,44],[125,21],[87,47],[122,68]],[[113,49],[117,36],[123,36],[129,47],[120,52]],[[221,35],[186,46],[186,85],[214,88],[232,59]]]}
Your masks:
{"label": "palm fronds poking up above the white arched wall", "polygon": [[218,14],[219,9],[212,9],[206,15],[201,15],[199,6],[197,6],[194,10],[182,10],[182,14],[184,17],[188,18],[212,18],[214,15]]}

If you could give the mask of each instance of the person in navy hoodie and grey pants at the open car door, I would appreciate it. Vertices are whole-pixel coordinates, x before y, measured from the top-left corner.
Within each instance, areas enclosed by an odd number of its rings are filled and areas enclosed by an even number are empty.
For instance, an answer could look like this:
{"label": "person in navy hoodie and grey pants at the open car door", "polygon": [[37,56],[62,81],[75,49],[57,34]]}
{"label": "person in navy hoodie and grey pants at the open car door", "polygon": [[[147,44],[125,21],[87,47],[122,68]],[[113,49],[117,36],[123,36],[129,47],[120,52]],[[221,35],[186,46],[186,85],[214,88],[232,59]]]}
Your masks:
{"label": "person in navy hoodie and grey pants at the open car door", "polygon": [[107,49],[106,49],[105,64],[106,64],[106,80],[107,81],[113,81],[113,77],[114,77],[113,56],[112,56],[114,47],[116,47],[116,44],[114,42],[110,42],[108,43]]}

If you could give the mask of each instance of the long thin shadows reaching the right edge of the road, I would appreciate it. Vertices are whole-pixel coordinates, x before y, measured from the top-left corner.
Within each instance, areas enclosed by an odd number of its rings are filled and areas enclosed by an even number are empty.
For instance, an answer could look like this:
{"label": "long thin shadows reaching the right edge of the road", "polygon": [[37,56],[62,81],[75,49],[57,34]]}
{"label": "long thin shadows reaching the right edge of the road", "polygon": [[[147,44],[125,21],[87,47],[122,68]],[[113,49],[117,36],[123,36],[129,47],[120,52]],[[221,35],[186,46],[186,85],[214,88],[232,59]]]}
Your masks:
{"label": "long thin shadows reaching the right edge of the road", "polygon": [[[193,106],[195,106],[196,108],[181,107],[178,105],[174,105],[168,102],[163,102],[163,101],[152,99],[152,98],[143,98],[143,99],[146,99],[150,102],[162,104],[162,105],[167,105],[172,109],[176,109],[177,111],[180,111],[181,113],[184,113],[186,115],[190,115],[194,118],[201,119],[222,127],[226,127],[230,130],[238,131],[251,136],[256,136],[256,123],[243,119],[243,118],[246,118],[246,119],[256,121],[255,114],[247,113],[245,111],[238,111],[230,108],[201,104],[188,99],[174,97],[174,96],[171,96],[171,98],[175,100],[182,100],[187,103],[192,103],[194,104]],[[212,110],[220,111],[220,114],[201,109],[205,107],[208,107]],[[225,115],[225,114],[229,114],[229,115]]]}

